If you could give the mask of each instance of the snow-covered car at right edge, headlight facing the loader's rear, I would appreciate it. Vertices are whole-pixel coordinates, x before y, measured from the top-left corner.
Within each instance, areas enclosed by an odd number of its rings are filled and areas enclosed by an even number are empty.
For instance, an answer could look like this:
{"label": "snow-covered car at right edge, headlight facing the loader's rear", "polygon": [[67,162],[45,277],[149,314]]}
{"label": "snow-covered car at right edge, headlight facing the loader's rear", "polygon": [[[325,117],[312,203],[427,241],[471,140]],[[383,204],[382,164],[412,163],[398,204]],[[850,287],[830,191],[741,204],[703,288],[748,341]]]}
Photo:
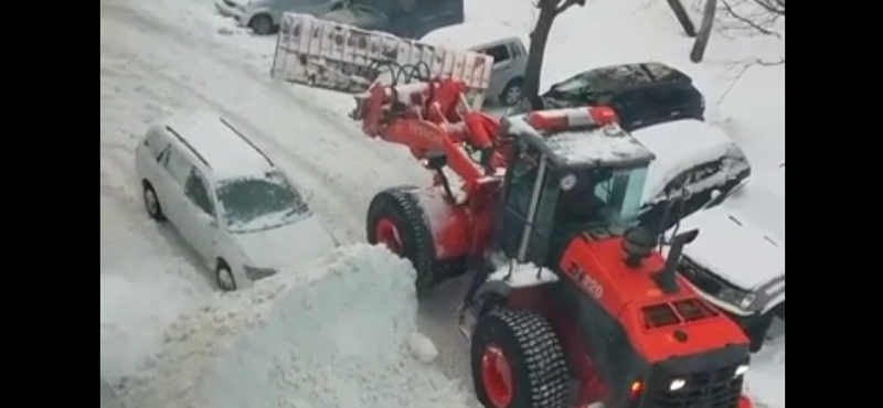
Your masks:
{"label": "snow-covered car at right edge, headlight facing the loader's rear", "polygon": [[753,179],[681,222],[699,236],[679,270],[740,323],[756,352],[774,319],[785,319],[785,168]]}

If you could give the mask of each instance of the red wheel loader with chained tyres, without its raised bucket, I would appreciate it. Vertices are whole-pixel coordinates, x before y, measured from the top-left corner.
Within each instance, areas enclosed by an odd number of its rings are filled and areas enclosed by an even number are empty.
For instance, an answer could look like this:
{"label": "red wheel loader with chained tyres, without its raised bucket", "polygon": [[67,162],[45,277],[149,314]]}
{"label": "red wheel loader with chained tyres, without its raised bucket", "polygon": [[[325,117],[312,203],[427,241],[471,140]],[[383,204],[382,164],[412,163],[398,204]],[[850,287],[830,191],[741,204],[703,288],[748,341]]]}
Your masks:
{"label": "red wheel loader with chained tyres, without its raised bucket", "polygon": [[655,155],[611,109],[496,119],[469,80],[412,79],[355,95],[362,131],[434,174],[377,193],[366,237],[413,264],[418,298],[471,276],[459,320],[485,407],[753,408],[748,339],[674,270],[698,232],[666,259],[636,223]]}

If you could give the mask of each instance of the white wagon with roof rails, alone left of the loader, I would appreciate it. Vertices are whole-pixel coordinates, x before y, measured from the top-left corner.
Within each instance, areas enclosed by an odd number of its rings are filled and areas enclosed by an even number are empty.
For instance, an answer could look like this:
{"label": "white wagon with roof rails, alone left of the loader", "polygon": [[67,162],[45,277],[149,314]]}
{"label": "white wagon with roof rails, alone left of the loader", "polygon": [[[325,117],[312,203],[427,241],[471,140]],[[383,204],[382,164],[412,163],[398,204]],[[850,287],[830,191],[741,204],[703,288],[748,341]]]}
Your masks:
{"label": "white wagon with roof rails, alone left of the loader", "polygon": [[147,213],[175,226],[221,290],[337,246],[286,174],[217,115],[167,118],[148,130],[135,157]]}

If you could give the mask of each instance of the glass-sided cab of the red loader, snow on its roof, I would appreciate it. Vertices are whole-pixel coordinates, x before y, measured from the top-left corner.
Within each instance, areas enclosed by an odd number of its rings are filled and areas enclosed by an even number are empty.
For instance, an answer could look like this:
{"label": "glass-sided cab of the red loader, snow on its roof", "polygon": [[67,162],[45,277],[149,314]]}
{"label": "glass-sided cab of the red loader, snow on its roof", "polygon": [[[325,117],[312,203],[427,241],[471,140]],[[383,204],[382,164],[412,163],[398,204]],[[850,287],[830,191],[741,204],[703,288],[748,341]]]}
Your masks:
{"label": "glass-sided cab of the red loader, snow on its roof", "polygon": [[[529,115],[573,118],[572,110]],[[498,245],[520,262],[553,267],[574,234],[618,235],[637,222],[655,157],[615,124],[547,130],[529,115],[503,120],[514,143]]]}

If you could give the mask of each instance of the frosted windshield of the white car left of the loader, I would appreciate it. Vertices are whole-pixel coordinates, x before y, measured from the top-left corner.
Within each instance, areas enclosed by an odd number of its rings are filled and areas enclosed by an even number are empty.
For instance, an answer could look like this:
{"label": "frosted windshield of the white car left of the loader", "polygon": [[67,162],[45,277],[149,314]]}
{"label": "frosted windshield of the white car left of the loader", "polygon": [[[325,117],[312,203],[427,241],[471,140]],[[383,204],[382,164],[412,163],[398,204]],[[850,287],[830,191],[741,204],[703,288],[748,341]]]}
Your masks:
{"label": "frosted windshield of the white car left of the loader", "polygon": [[278,172],[265,178],[242,178],[222,181],[217,201],[223,208],[227,230],[246,233],[295,222],[309,212],[307,202]]}

